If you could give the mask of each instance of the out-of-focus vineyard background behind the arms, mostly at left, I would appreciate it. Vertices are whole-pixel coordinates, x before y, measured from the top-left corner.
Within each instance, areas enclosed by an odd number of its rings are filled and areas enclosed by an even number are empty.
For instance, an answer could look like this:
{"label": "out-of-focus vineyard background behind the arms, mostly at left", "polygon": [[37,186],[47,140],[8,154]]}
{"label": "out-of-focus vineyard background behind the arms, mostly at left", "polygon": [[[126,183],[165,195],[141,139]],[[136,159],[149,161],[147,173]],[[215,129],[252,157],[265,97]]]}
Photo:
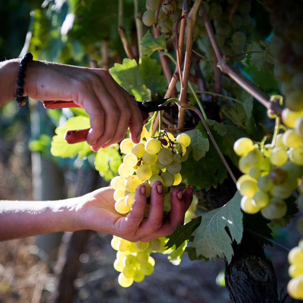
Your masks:
{"label": "out-of-focus vineyard background behind the arms, mostly at left", "polygon": [[[36,59],[74,65],[94,62],[109,68],[121,62],[126,55],[116,31],[117,1],[112,2],[86,1],[79,13],[82,18],[71,22],[66,17],[78,1],[1,1],[0,61],[29,49]],[[125,3],[129,17],[124,26],[132,35],[133,4]],[[0,200],[62,199],[108,184],[89,157],[61,159],[50,154],[55,127],[72,115],[69,110],[46,111],[34,100],[22,108],[14,101],[0,108]],[[278,289],[284,293],[288,251],[282,246],[297,244],[294,230],[295,220],[287,228],[274,228],[274,238],[282,245],[265,249],[275,267]],[[1,242],[0,302],[67,302],[62,293],[74,295],[72,302],[230,302],[222,283],[222,260],[191,262],[185,254],[174,266],[165,255],[154,254],[154,273],[125,289],[118,285],[112,266],[111,236],[83,231],[73,237],[48,234]]]}

